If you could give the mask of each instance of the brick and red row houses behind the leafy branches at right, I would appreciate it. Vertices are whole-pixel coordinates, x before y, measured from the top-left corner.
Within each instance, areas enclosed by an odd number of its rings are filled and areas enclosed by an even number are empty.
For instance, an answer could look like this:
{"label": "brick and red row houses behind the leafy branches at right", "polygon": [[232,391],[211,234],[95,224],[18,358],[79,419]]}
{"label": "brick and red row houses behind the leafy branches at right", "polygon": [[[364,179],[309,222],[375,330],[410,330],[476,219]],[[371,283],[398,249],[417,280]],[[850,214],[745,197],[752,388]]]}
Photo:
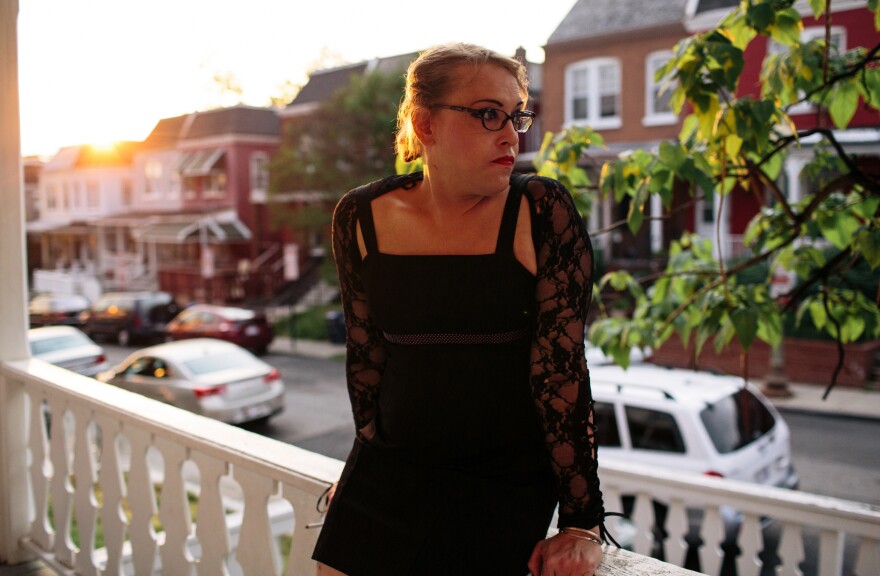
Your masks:
{"label": "brick and red row houses behind the leafy branches at right", "polygon": [[[664,140],[675,140],[683,118],[673,113],[668,93],[661,94],[654,72],[672,57],[679,40],[711,29],[738,4],[736,0],[578,0],[544,46],[544,128],[559,131],[587,125],[598,131],[608,147],[591,150],[585,160],[596,170],[622,152],[656,149]],[[806,2],[798,2],[796,7],[804,19],[805,38],[824,34],[824,24],[810,15]],[[840,49],[876,43],[873,16],[865,2],[834,2],[831,9],[832,41]],[[761,63],[768,51],[777,49],[771,40],[763,40],[753,41],[744,55],[737,96],[760,90]],[[789,112],[798,129],[831,126],[827,113],[815,107],[798,106]],[[876,162],[880,156],[876,111],[859,109],[839,139],[848,151],[873,157]],[[802,140],[801,148],[786,160],[782,187],[792,200],[811,189],[801,168],[817,140]],[[598,180],[597,172],[594,176]],[[681,200],[685,191],[674,194]],[[711,194],[671,219],[652,220],[635,236],[621,229],[600,235],[595,242],[607,268],[657,269],[664,248],[683,231],[710,239],[721,257],[737,257],[744,251],[743,233],[761,205],[754,195],[734,190],[725,199],[720,246],[715,230],[719,206]],[[623,220],[627,210],[625,203],[606,200],[592,215],[591,227],[599,229]],[[658,198],[652,198],[650,211],[651,216],[661,214]]]}

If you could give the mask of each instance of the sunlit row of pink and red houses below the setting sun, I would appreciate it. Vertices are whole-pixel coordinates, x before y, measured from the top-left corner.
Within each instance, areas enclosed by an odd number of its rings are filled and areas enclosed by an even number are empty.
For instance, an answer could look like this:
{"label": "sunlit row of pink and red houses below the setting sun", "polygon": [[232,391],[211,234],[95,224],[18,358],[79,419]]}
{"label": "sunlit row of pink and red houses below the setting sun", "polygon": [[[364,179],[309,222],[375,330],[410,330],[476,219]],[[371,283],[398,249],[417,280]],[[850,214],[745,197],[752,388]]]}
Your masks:
{"label": "sunlit row of pink and red houses below the setting sun", "polygon": [[268,224],[280,130],[277,111],[235,106],[160,120],[143,142],[59,151],[28,223],[40,254],[32,287],[82,272],[98,290],[161,289],[182,302],[273,296],[295,280],[284,233]]}

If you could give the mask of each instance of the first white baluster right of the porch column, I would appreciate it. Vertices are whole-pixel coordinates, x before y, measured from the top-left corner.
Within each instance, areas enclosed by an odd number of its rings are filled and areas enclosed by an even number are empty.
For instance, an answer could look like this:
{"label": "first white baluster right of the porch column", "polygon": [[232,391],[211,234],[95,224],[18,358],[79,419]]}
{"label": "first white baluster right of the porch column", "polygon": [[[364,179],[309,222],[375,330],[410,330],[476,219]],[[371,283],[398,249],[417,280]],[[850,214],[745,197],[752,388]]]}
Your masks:
{"label": "first white baluster right of the porch column", "polygon": [[52,526],[49,524],[49,478],[52,463],[49,460],[49,438],[46,434],[43,398],[30,396],[30,434],[28,447],[31,451],[30,477],[34,496],[34,524],[31,538],[43,550],[52,549]]}

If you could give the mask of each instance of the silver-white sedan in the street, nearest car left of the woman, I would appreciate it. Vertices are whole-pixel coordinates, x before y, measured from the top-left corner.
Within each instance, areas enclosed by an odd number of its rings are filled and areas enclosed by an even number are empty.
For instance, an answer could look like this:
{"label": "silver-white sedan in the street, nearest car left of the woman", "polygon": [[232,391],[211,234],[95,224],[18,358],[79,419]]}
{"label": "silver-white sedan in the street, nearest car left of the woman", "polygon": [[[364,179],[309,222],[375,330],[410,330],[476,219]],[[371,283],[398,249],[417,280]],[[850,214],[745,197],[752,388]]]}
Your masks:
{"label": "silver-white sedan in the street, nearest car left of the woman", "polygon": [[266,421],[284,409],[278,370],[214,338],[138,350],[98,380],[229,424]]}

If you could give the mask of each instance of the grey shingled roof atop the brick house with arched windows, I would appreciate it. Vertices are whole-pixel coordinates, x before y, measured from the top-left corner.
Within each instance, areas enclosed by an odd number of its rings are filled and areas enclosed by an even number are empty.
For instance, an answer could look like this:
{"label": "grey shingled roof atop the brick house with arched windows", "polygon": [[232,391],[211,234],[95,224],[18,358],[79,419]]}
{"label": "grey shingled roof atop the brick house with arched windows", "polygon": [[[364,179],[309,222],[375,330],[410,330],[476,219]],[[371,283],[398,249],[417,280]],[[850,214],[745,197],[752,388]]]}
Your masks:
{"label": "grey shingled roof atop the brick house with arched windows", "polygon": [[687,0],[578,0],[547,45],[681,22]]}

